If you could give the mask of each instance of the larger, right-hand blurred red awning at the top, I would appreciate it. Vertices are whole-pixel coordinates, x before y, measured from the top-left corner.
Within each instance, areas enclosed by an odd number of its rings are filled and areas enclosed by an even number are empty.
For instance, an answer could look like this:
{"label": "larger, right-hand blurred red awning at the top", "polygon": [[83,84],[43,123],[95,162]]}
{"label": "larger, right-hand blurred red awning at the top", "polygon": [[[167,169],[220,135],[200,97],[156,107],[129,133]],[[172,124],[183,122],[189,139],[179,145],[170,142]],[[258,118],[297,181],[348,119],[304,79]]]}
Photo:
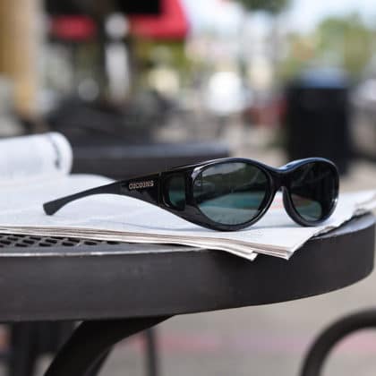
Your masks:
{"label": "larger, right-hand blurred red awning at the top", "polygon": [[130,17],[131,33],[158,40],[185,38],[189,23],[180,0],[161,0],[160,8],[158,15]]}

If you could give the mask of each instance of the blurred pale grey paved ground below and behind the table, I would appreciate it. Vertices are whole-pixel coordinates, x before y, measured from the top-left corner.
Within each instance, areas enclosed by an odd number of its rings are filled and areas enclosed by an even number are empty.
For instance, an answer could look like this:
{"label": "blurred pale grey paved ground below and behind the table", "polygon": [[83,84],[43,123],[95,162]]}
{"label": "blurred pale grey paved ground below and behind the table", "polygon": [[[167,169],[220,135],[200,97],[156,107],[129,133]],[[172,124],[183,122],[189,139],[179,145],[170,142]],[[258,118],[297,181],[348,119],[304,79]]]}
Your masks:
{"label": "blurred pale grey paved ground below and behind the table", "polygon": [[[226,131],[235,155],[278,166],[280,150],[267,148],[272,132]],[[376,188],[376,165],[356,162],[343,189]],[[354,250],[356,252],[356,250]],[[320,329],[344,314],[376,305],[376,274],[355,286],[291,303],[175,317],[158,326],[163,376],[292,376]],[[121,343],[102,374],[144,375],[141,336]],[[376,373],[376,333],[348,338],[330,357],[324,376]],[[43,366],[42,366],[43,368]]]}

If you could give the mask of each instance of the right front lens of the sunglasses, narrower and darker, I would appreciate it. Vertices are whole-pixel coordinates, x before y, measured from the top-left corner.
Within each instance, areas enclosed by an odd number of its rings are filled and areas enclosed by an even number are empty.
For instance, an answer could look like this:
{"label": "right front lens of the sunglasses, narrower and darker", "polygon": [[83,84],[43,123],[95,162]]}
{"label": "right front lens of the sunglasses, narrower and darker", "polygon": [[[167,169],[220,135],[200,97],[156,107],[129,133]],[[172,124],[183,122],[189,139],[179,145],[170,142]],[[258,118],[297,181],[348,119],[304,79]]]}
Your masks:
{"label": "right front lens of the sunglasses, narrower and darker", "polygon": [[298,214],[307,221],[326,218],[338,195],[337,172],[328,163],[308,163],[295,170],[290,186]]}

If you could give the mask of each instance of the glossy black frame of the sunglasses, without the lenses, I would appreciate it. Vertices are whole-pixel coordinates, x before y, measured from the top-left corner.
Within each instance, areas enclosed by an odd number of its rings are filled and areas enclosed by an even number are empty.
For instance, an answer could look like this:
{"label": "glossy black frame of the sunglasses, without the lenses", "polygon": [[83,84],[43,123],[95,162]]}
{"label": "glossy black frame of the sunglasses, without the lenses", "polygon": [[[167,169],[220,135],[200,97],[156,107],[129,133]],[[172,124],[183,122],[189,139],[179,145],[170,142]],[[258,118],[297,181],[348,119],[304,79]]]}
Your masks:
{"label": "glossy black frame of the sunglasses, without the lenses", "polygon": [[[199,208],[193,194],[194,181],[201,174],[201,172],[209,167],[228,163],[245,163],[253,167],[260,168],[268,178],[267,192],[262,202],[263,206],[261,211],[254,218],[244,223],[235,225],[221,224],[208,218]],[[328,165],[333,173],[335,197],[332,198],[331,208],[324,217],[320,218],[319,220],[308,221],[300,216],[295,209],[289,187],[291,184],[291,174],[293,174],[297,168],[312,163],[325,163]],[[182,209],[176,208],[168,199],[167,182],[173,175],[184,176],[185,202],[184,208]],[[184,218],[199,226],[218,231],[236,231],[251,226],[260,220],[261,217],[268,211],[272,201],[274,200],[276,192],[278,192],[279,189],[282,189],[284,207],[290,218],[301,226],[316,226],[329,218],[336,208],[338,201],[338,187],[338,169],[334,163],[325,158],[299,159],[279,168],[269,167],[261,162],[248,158],[221,158],[194,165],[175,167],[157,174],[138,176],[112,184],[103,185],[97,188],[92,188],[84,192],[78,192],[55,201],[47,202],[43,205],[43,207],[48,215],[52,215],[65,204],[92,194],[120,194],[157,205],[159,208],[165,209],[176,216]]]}

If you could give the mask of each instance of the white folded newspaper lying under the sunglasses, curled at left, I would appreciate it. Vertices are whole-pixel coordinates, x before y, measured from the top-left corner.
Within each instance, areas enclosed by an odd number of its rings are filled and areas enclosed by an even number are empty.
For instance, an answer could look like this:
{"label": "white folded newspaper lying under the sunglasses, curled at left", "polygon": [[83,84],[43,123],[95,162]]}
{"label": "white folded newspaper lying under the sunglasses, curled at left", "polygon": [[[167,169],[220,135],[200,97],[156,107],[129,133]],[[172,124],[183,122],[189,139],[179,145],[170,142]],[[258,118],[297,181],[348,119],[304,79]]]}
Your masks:
{"label": "white folded newspaper lying under the sunglasses, curled at left", "polygon": [[185,244],[248,260],[258,253],[289,259],[312,236],[376,207],[376,190],[341,193],[331,218],[303,227],[287,216],[277,195],[257,224],[235,232],[209,230],[149,203],[108,194],[74,201],[47,216],[44,202],[110,182],[98,175],[70,175],[72,161],[72,149],[59,133],[0,141],[0,233]]}

